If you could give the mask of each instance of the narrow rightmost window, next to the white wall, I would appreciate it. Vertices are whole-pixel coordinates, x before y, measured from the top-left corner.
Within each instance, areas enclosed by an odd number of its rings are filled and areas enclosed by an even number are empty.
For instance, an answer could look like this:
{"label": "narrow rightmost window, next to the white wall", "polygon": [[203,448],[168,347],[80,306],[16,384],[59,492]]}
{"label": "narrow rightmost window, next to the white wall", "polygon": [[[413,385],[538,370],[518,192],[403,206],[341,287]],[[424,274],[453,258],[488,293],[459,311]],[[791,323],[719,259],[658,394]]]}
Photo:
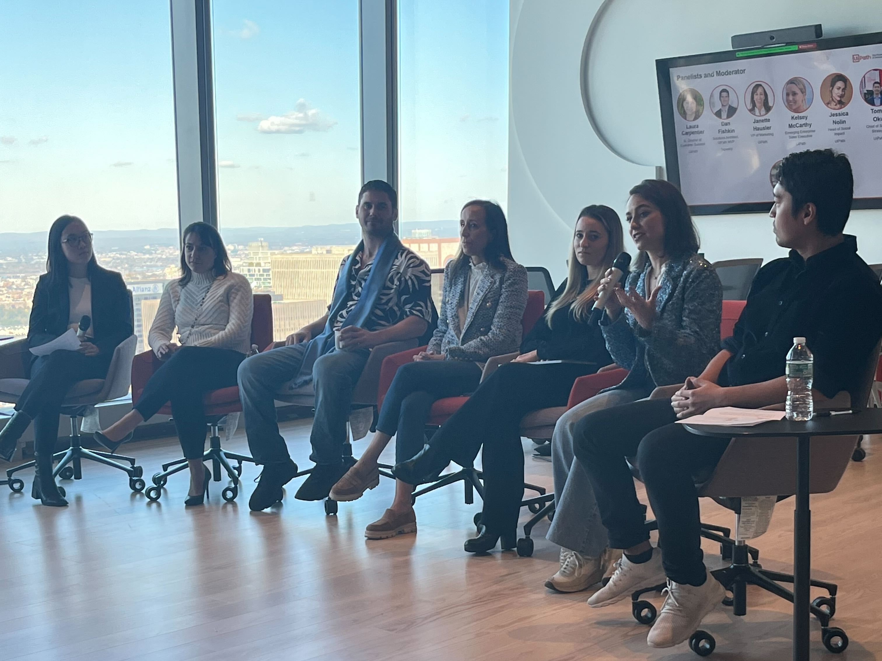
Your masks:
{"label": "narrow rightmost window, next to the white wall", "polygon": [[506,208],[507,0],[400,0],[401,237],[434,268],[455,254],[460,208]]}

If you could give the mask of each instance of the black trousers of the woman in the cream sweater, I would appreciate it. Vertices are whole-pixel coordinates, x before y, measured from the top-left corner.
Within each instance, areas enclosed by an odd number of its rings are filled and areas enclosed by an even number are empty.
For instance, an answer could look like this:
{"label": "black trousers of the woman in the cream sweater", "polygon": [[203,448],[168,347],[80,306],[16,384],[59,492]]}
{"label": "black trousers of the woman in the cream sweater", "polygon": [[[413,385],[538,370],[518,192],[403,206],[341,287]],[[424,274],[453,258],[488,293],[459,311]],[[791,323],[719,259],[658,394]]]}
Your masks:
{"label": "black trousers of the woman in the cream sweater", "polygon": [[201,459],[206,449],[206,392],[236,384],[236,371],[245,354],[213,346],[183,346],[150,377],[138,404],[144,420],[171,402],[183,456]]}

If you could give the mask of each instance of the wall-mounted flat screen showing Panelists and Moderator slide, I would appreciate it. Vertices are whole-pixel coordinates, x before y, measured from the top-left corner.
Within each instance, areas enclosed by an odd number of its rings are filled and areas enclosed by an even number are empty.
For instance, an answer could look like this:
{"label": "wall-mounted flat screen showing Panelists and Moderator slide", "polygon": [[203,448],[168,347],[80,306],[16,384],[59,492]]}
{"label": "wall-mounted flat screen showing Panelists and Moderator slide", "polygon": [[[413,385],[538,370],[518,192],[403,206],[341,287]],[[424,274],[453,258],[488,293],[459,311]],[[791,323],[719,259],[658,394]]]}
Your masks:
{"label": "wall-mounted flat screen showing Panelists and Moderator slide", "polygon": [[693,213],[766,211],[781,159],[848,155],[882,208],[882,33],[656,60],[665,165]]}

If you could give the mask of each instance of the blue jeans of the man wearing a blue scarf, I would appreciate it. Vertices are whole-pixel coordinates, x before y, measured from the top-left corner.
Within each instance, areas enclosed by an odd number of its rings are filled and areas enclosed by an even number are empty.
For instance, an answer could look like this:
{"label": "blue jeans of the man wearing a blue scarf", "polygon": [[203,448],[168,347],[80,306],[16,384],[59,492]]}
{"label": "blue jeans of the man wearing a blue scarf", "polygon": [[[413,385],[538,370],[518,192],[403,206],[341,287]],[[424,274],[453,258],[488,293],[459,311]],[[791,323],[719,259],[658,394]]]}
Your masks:
{"label": "blue jeans of the man wearing a blue scarf", "polygon": [[[279,433],[275,394],[300,371],[306,347],[305,342],[280,346],[250,356],[239,366],[245,433],[258,464],[277,464],[291,459],[285,439]],[[310,434],[310,459],[316,464],[337,465],[343,460],[352,391],[368,356],[367,349],[332,351],[320,356],[312,367],[316,412]]]}

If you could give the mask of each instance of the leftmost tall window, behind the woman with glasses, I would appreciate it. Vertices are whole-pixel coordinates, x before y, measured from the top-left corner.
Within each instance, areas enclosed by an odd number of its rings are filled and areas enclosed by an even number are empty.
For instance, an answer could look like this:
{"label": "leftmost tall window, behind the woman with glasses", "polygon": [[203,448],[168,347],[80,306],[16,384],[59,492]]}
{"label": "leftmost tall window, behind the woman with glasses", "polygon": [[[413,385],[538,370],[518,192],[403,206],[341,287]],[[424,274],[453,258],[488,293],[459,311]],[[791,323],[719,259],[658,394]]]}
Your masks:
{"label": "leftmost tall window, behind the woman with glasses", "polygon": [[23,336],[52,221],[94,233],[144,347],[178,251],[167,2],[0,4],[0,336]]}

